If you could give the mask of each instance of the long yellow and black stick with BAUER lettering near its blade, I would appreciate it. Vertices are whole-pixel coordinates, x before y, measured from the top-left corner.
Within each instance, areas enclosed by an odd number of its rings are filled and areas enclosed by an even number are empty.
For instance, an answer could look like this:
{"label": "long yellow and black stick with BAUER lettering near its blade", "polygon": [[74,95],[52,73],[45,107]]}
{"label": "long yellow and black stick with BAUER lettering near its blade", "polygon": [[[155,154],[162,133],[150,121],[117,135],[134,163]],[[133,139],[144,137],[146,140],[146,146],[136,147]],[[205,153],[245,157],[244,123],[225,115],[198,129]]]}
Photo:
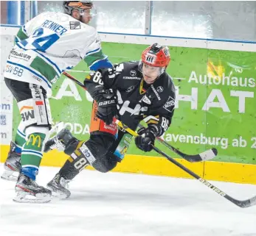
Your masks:
{"label": "long yellow and black stick with BAUER lettering near its blade", "polygon": [[[122,124],[121,121],[116,120],[115,123],[118,126],[120,126],[120,128],[125,129],[131,135],[133,135],[135,137],[138,136],[138,134],[136,132],[134,132],[134,130],[128,128],[128,126],[125,126],[125,124]],[[210,184],[210,182],[208,182],[207,180],[202,179],[200,176],[195,174],[193,171],[190,171],[190,169],[184,167],[184,165],[181,165],[179,162],[174,160],[172,157],[169,157],[167,154],[165,154],[165,152],[163,152],[163,151],[159,150],[158,148],[156,148],[156,146],[152,145],[152,147],[153,147],[153,150],[155,150],[156,152],[161,154],[163,157],[165,157],[167,160],[172,162],[174,165],[177,165],[183,171],[187,172],[187,174],[190,174],[190,176],[193,176],[195,179],[198,179],[201,183],[203,183],[204,185],[206,185],[210,189],[214,190],[220,196],[223,196],[225,199],[231,201],[233,204],[237,205],[238,207],[242,207],[242,208],[252,207],[253,205],[256,204],[256,196],[252,197],[251,199],[246,199],[246,200],[243,200],[243,201],[240,201],[240,200],[237,200],[237,199],[233,199],[231,196],[227,195],[222,190],[218,189],[218,187],[215,187],[214,185]]]}

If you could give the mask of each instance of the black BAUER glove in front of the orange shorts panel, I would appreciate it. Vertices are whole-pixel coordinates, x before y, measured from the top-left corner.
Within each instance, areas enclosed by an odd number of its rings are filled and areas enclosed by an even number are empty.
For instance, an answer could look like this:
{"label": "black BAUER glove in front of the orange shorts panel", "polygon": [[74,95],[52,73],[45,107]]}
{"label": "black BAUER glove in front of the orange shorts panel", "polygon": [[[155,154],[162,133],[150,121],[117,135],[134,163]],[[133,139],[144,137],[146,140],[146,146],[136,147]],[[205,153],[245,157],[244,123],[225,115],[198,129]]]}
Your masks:
{"label": "black BAUER glove in front of the orange shorts panel", "polygon": [[118,114],[114,93],[111,90],[101,90],[95,100],[98,104],[97,117],[111,124],[115,115]]}

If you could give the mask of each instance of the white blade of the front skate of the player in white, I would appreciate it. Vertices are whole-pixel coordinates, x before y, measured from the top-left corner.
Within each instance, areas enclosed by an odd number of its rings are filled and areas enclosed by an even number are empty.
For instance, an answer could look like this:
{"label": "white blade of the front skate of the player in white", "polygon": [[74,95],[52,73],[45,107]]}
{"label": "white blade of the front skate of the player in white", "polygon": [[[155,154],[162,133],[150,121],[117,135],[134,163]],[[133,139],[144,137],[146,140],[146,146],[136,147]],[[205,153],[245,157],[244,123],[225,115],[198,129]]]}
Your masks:
{"label": "white blade of the front skate of the player in white", "polygon": [[51,196],[48,193],[37,193],[35,196],[30,195],[29,193],[18,192],[16,193],[13,201],[18,203],[47,203],[51,201]]}

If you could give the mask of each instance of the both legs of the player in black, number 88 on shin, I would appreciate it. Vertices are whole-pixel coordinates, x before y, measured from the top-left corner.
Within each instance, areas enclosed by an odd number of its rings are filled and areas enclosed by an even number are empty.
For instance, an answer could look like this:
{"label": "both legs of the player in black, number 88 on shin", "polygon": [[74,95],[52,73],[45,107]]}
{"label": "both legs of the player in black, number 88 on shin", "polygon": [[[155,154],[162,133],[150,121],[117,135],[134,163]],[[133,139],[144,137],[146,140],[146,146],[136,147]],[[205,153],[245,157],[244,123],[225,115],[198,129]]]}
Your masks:
{"label": "both legs of the player in black, number 88 on shin", "polygon": [[[122,161],[131,143],[131,139],[131,135],[121,131],[119,131],[117,139],[103,132],[102,134],[91,135],[90,139],[83,143],[72,137],[69,130],[63,129],[58,133],[58,140],[69,143],[66,145],[65,153],[70,154],[70,157],[58,174],[48,183],[47,187],[54,193],[58,193],[57,195],[60,198],[68,198],[71,193],[67,188],[67,184],[80,171],[87,165],[92,165],[97,171],[102,173],[111,171],[117,166],[117,162]],[[71,154],[72,151],[74,152]]]}

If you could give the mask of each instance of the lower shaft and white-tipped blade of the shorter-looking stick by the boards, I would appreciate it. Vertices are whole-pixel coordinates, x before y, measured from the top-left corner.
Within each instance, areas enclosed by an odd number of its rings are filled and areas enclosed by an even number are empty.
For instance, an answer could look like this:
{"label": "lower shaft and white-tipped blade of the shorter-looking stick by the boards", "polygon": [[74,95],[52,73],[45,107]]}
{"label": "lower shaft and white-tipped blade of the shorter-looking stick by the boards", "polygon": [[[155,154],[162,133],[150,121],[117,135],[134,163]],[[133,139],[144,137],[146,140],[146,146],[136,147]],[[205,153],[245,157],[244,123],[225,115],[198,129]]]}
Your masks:
{"label": "lower shaft and white-tipped blade of the shorter-looking stick by the boards", "polygon": [[[144,126],[139,124],[139,128],[143,128],[143,127]],[[205,160],[211,160],[212,158],[216,157],[217,154],[218,154],[217,149],[213,148],[213,149],[209,149],[207,151],[204,151],[200,154],[188,155],[188,154],[184,154],[183,152],[174,148],[169,143],[165,142],[165,140],[163,140],[161,137],[156,137],[156,139],[160,143],[164,144],[168,149],[172,150],[173,152],[175,152],[176,154],[178,154],[180,157],[184,158],[184,160],[187,160],[188,162],[201,162],[201,161],[205,161]]]}

